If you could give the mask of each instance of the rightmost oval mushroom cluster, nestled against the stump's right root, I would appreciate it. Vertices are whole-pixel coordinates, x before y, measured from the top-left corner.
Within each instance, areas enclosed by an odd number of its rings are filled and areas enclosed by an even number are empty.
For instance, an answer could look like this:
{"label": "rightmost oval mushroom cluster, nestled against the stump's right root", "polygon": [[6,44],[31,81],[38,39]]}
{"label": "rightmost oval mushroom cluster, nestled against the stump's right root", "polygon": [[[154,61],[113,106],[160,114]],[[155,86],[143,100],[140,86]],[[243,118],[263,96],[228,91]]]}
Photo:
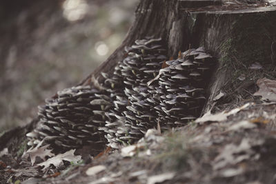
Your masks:
{"label": "rightmost oval mushroom cluster, nestled against the stump's right root", "polygon": [[155,109],[161,125],[184,125],[199,116],[213,61],[204,48],[187,50],[181,58],[166,61],[167,67],[159,72],[159,86],[155,87],[160,99]]}

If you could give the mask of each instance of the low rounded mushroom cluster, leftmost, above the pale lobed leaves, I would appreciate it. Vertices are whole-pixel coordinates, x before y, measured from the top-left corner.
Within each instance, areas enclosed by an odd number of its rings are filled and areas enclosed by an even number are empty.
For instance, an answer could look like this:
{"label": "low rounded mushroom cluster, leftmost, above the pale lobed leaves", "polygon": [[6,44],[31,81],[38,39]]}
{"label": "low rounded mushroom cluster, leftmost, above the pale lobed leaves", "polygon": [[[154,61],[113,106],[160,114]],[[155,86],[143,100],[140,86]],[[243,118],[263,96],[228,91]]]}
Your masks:
{"label": "low rounded mushroom cluster, leftmost, above the pale lobed leaves", "polygon": [[61,90],[46,99],[46,105],[39,106],[39,123],[27,134],[28,144],[44,139],[59,150],[86,144],[101,149],[106,139],[98,127],[104,126],[110,105],[109,96],[89,85]]}

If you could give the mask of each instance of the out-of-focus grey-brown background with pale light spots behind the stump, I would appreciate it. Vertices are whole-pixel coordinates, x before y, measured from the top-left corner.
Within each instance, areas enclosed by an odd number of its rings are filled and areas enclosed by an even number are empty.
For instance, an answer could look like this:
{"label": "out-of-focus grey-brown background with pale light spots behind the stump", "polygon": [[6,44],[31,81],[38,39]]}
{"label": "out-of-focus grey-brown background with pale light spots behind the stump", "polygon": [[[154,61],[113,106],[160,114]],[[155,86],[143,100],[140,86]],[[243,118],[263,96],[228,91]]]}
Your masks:
{"label": "out-of-focus grey-brown background with pale light spots behind the stump", "polygon": [[1,0],[0,132],[85,78],[121,44],[138,0]]}

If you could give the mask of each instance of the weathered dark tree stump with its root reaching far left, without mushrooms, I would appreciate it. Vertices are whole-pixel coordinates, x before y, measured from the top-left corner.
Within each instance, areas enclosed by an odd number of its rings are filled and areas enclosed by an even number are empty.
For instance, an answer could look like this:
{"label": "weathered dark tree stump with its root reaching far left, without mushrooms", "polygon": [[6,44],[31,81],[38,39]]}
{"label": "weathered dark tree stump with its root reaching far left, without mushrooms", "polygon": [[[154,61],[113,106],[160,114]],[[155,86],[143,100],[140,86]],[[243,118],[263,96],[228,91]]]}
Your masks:
{"label": "weathered dark tree stump with its root reaching far left, without mushrooms", "polygon": [[[276,8],[264,6],[259,1],[226,5],[221,1],[208,0],[141,0],[126,39],[78,85],[91,83],[92,76],[99,77],[101,82],[100,73],[112,72],[117,62],[124,59],[126,45],[132,45],[136,39],[154,36],[161,37],[166,43],[168,57],[176,58],[179,51],[204,46],[217,59],[208,87],[208,101],[202,112],[214,108],[213,99],[221,90],[228,94],[224,99],[227,102],[239,100],[239,95],[246,98],[248,93],[242,89],[245,89],[244,86],[251,88],[257,79],[256,76],[250,76],[255,73],[250,72],[248,67],[259,62],[266,65],[263,70],[267,70],[274,68],[275,64],[271,54],[276,51],[271,50],[271,44],[276,41]],[[246,79],[239,81],[242,74],[246,75]],[[275,72],[260,72],[258,78],[266,75],[274,76]],[[0,150],[9,147],[15,154],[16,148],[26,139],[23,134],[29,132],[35,123],[37,119],[20,131],[17,128],[3,134],[0,137]],[[19,134],[13,134],[14,131],[19,131]]]}

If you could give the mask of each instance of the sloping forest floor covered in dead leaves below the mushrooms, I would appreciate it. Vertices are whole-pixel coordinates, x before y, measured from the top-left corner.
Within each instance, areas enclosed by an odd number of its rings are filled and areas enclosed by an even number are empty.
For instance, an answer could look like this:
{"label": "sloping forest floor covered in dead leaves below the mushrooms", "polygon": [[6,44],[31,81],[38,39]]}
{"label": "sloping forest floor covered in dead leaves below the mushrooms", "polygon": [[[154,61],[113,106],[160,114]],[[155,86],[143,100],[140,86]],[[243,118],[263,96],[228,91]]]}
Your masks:
{"label": "sloping forest floor covered in dead leaves below the mushrooms", "polygon": [[135,145],[107,147],[47,170],[31,166],[22,153],[2,150],[0,182],[275,183],[276,104],[250,99],[228,107],[164,133],[149,130]]}

